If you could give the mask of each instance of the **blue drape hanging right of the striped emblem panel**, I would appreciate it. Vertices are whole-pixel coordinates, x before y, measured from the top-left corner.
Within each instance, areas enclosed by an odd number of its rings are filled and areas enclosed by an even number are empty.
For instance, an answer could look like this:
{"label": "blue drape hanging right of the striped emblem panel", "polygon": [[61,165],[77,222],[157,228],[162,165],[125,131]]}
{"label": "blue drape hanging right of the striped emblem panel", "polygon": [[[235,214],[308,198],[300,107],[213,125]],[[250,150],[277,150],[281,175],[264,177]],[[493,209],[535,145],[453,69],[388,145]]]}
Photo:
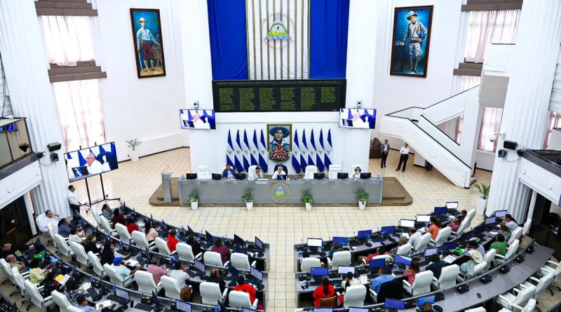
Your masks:
{"label": "blue drape hanging right of the striped emblem panel", "polygon": [[310,1],[310,79],[345,78],[349,1]]}

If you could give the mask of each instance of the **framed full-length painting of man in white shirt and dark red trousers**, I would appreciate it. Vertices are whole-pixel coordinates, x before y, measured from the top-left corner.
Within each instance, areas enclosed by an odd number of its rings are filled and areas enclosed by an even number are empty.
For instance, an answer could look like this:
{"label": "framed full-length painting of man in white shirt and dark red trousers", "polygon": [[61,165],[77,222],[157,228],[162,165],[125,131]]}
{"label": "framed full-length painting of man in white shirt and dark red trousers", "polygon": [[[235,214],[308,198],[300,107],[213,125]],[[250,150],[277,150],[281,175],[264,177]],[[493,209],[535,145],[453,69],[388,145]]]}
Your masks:
{"label": "framed full-length painting of man in white shirt and dark red trousers", "polygon": [[130,24],[138,78],[165,76],[160,10],[131,8]]}

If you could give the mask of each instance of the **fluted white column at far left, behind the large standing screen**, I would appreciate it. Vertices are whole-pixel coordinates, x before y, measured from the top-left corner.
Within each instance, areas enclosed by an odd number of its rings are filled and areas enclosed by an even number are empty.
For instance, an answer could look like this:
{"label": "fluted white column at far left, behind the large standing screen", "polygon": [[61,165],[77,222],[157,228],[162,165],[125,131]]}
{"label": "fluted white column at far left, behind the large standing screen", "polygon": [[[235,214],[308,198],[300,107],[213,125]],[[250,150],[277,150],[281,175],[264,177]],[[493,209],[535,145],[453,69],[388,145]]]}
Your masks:
{"label": "fluted white column at far left, behind the large standing screen", "polygon": [[[27,117],[33,150],[46,151],[48,143],[62,143],[60,119],[47,75],[46,47],[33,0],[0,0],[0,51],[14,115]],[[37,213],[53,210],[70,215],[62,151],[60,159],[58,163],[49,163],[48,156],[41,159],[43,182],[32,190]]]}

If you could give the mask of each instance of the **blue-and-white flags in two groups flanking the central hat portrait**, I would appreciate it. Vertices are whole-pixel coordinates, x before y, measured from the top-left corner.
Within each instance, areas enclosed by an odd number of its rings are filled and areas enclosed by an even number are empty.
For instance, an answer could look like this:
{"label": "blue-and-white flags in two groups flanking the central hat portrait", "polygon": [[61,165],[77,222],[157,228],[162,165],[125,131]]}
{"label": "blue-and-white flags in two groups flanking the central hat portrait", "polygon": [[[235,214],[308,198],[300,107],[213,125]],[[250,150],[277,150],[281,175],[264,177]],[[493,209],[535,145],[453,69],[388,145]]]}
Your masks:
{"label": "blue-and-white flags in two groups flanking the central hat portrait", "polygon": [[[309,140],[306,140],[306,129],[302,130],[302,138],[299,137],[298,129],[296,129],[291,146],[291,163],[297,173],[304,172],[308,165],[315,165],[318,167],[318,171],[323,172],[332,164],[331,129],[327,131],[325,141],[323,140],[323,129],[320,129],[318,140],[314,137],[313,129]],[[257,130],[254,129],[252,140],[248,139],[247,130],[238,129],[235,136],[231,130],[228,130],[226,163],[235,168],[237,172],[248,172],[252,165],[259,165],[264,172],[268,172],[267,154],[263,129],[261,129],[259,137]]]}

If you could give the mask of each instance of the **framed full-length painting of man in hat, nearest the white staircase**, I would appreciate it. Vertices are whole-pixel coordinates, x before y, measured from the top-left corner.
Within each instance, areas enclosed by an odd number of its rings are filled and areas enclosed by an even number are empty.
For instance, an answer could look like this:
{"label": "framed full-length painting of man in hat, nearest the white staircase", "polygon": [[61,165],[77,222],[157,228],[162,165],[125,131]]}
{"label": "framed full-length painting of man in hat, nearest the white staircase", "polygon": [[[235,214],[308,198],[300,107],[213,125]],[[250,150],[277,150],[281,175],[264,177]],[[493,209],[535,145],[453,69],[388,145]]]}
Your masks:
{"label": "framed full-length painting of man in hat, nearest the white staircase", "polygon": [[396,8],[390,74],[426,78],[433,6]]}

